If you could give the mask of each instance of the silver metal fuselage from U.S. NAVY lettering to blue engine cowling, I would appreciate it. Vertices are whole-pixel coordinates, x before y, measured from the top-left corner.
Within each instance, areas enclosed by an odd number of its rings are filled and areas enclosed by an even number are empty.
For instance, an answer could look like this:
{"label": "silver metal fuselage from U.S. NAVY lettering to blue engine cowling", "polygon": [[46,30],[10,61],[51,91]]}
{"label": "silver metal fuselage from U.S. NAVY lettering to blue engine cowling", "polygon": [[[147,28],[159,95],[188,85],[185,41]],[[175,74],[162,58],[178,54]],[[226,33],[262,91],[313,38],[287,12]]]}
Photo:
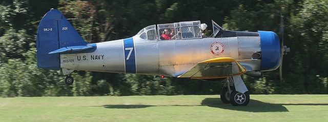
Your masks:
{"label": "silver metal fuselage from U.S. NAVY lettering to blue engine cowling", "polygon": [[[222,44],[220,54],[211,52],[214,43]],[[60,68],[175,77],[203,60],[251,59],[252,54],[261,51],[259,36],[159,41],[133,36],[96,45],[97,49],[91,53],[60,54]],[[259,64],[260,60],[254,60],[246,65],[250,66],[249,71],[259,71]]]}

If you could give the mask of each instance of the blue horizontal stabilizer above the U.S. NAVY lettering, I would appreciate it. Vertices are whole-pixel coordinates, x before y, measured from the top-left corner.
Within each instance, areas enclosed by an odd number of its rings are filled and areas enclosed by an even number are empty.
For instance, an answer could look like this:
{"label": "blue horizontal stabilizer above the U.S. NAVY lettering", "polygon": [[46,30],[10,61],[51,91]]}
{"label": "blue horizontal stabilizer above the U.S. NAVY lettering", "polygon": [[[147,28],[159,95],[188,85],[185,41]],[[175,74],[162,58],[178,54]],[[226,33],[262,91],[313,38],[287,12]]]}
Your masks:
{"label": "blue horizontal stabilizer above the U.S. NAVY lettering", "polygon": [[58,50],[51,51],[51,52],[49,52],[49,54],[63,53],[63,52],[75,52],[75,51],[92,49],[92,48],[96,48],[96,47],[97,47],[96,44],[88,44],[85,46],[70,46],[70,47],[64,47],[64,48],[60,48]]}

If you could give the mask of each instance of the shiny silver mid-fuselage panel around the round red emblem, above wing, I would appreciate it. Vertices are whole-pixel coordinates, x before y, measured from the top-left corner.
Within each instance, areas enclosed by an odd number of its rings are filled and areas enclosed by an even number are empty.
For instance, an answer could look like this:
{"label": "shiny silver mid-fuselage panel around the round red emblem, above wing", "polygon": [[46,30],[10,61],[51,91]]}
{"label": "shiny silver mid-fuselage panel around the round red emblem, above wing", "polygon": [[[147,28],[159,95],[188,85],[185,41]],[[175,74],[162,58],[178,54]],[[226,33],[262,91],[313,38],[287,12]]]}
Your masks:
{"label": "shiny silver mid-fuselage panel around the round red emblem, above wing", "polygon": [[[213,54],[211,47],[220,43],[224,51]],[[238,58],[237,37],[202,38],[189,40],[166,40],[158,43],[159,72],[169,76],[177,76],[186,72],[197,63],[216,57]]]}

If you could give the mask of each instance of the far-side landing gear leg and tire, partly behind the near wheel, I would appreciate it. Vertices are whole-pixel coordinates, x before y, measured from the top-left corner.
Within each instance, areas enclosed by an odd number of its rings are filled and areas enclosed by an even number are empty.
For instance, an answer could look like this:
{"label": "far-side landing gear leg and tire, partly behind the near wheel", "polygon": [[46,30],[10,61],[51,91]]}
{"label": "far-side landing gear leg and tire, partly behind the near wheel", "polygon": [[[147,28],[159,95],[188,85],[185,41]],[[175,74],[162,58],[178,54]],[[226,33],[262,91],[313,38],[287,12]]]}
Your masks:
{"label": "far-side landing gear leg and tire, partly behind the near wheel", "polygon": [[220,98],[224,104],[230,103],[230,94],[235,91],[235,87],[231,86],[231,83],[233,83],[232,78],[227,77],[227,79],[224,81],[224,86],[220,92]]}

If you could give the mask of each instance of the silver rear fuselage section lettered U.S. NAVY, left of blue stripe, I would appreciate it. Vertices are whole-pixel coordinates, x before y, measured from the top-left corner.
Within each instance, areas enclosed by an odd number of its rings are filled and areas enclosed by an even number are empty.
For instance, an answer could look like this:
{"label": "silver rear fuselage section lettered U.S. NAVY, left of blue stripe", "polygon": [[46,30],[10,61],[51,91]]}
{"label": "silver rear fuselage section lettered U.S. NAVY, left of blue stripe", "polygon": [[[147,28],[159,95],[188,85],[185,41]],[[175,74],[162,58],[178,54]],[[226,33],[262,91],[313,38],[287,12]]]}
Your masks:
{"label": "silver rear fuselage section lettered U.S. NAVY, left of blue stripe", "polygon": [[122,40],[97,43],[97,49],[92,53],[61,54],[60,67],[75,70],[124,73],[123,53]]}

